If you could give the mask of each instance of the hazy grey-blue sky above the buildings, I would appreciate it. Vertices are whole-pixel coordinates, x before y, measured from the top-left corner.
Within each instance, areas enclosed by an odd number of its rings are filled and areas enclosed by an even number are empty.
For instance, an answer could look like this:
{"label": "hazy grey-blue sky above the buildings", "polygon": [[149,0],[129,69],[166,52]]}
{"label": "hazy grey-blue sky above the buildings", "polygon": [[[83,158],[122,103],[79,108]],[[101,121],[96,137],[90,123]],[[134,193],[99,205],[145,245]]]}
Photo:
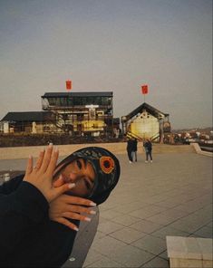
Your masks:
{"label": "hazy grey-blue sky above the buildings", "polygon": [[211,0],[0,0],[0,119],[44,92],[113,91],[114,116],[143,101],[173,129],[212,125]]}

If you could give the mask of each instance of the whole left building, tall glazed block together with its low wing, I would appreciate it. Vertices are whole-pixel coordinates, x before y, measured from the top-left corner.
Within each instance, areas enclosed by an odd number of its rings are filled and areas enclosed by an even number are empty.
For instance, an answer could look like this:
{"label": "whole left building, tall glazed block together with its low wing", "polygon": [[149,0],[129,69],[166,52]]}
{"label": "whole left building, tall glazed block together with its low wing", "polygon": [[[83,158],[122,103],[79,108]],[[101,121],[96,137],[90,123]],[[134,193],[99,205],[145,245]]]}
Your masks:
{"label": "whole left building, tall glazed block together with its low wing", "polygon": [[112,91],[48,92],[41,98],[43,111],[8,112],[0,131],[111,138],[120,124],[113,119]]}

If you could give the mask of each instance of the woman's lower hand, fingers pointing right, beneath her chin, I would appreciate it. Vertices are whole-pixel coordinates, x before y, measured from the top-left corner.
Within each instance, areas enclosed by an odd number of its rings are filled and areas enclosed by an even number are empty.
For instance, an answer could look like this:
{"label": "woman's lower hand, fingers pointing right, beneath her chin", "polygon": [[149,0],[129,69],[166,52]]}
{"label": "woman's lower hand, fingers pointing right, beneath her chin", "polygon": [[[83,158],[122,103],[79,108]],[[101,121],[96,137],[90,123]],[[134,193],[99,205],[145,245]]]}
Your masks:
{"label": "woman's lower hand, fingers pointing right, beneath her chin", "polygon": [[91,221],[91,218],[86,215],[82,215],[95,214],[95,211],[88,206],[96,205],[92,201],[82,197],[61,195],[50,203],[49,217],[55,222],[66,225],[69,228],[78,231],[78,227],[71,223],[68,219],[88,222]]}

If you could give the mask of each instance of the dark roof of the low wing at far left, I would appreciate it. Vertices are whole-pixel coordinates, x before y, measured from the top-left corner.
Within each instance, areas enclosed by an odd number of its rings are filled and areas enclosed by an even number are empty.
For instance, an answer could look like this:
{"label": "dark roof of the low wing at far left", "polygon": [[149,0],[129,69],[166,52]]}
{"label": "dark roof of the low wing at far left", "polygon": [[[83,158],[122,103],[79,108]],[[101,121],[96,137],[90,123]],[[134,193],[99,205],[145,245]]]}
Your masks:
{"label": "dark roof of the low wing at far left", "polygon": [[48,120],[51,113],[48,111],[11,111],[1,121],[44,121]]}

